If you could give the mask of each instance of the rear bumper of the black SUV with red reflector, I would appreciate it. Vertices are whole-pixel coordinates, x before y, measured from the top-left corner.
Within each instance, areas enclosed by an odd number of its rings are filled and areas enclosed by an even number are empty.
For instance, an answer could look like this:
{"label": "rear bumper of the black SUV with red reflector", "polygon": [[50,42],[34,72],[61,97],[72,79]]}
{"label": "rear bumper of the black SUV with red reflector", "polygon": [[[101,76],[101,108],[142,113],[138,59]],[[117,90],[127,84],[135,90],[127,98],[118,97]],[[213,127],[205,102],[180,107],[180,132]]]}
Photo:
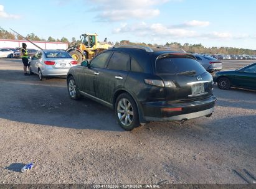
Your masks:
{"label": "rear bumper of the black SUV with red reflector", "polygon": [[169,103],[158,101],[142,104],[145,121],[181,121],[208,116],[214,111],[217,98],[209,98],[186,102]]}

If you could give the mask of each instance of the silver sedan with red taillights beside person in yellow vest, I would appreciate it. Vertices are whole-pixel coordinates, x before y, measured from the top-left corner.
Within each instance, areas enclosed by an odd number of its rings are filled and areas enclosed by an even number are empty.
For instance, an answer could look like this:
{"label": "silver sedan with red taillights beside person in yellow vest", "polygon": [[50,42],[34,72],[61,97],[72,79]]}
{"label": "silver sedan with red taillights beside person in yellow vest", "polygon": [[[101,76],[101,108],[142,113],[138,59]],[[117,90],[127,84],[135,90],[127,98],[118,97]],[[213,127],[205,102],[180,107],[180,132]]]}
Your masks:
{"label": "silver sedan with red taillights beside person in yellow vest", "polygon": [[69,68],[77,65],[77,61],[62,50],[38,50],[31,58],[29,73],[45,76],[66,76]]}

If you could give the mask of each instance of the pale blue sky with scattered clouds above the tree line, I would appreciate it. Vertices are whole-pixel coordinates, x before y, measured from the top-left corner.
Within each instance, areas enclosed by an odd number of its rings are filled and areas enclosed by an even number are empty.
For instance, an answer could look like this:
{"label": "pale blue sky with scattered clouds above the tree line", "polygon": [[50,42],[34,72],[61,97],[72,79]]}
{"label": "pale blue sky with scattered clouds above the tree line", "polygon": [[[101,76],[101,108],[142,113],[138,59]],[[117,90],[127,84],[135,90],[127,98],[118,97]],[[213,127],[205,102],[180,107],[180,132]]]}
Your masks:
{"label": "pale blue sky with scattered clouds above the tree line", "polygon": [[199,44],[256,50],[256,1],[231,0],[0,0],[0,27],[47,39]]}

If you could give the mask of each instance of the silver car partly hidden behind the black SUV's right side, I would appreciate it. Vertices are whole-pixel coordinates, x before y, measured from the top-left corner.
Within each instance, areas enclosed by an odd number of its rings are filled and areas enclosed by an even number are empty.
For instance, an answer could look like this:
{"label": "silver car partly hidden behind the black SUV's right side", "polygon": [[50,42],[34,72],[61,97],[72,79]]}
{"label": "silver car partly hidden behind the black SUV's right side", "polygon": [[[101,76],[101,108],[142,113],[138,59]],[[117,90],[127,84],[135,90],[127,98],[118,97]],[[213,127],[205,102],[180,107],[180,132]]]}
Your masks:
{"label": "silver car partly hidden behind the black SUV's right side", "polygon": [[194,54],[194,57],[196,57],[197,62],[199,62],[202,67],[210,73],[222,70],[222,63],[216,58],[199,54]]}

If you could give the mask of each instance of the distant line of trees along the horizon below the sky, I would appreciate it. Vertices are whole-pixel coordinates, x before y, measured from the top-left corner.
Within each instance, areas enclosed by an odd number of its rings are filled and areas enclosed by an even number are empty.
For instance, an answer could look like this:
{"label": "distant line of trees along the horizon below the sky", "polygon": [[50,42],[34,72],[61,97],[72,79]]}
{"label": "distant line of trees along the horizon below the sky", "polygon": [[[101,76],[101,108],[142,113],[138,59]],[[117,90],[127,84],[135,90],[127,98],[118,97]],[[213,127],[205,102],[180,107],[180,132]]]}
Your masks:
{"label": "distant line of trees along the horizon below the sky", "polygon": [[[54,39],[49,36],[48,39],[42,39],[38,37],[36,34],[31,33],[26,35],[29,40],[36,41],[45,41],[45,42],[64,42],[68,43],[69,47],[79,44],[80,40],[76,40],[75,37],[72,37],[71,41],[69,41],[66,37],[62,37],[61,39]],[[22,37],[16,35],[12,32],[8,32],[0,27],[0,39],[17,39],[22,40]],[[183,49],[186,52],[191,53],[209,53],[209,54],[228,54],[228,55],[256,55],[256,50],[251,50],[247,48],[234,48],[234,47],[204,47],[202,44],[180,44],[178,42],[166,42],[165,45],[158,44],[146,44],[146,43],[135,43],[130,42],[130,40],[121,40],[120,42],[116,42],[115,45],[143,45],[148,47],[169,47],[173,50]]]}

